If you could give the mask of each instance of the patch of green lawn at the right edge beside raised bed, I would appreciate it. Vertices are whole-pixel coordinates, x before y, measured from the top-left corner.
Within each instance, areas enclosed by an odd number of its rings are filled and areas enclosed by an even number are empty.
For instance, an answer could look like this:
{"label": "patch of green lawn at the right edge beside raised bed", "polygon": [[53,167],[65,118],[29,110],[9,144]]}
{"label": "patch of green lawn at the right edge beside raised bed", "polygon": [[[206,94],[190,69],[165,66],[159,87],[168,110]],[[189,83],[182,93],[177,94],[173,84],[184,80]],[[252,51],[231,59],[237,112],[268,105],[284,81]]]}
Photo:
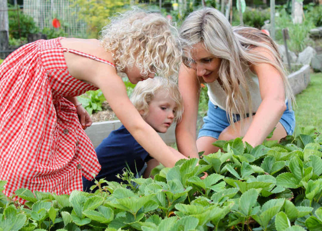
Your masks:
{"label": "patch of green lawn at the right edge beside raised bed", "polygon": [[314,126],[322,132],[322,73],[311,73],[308,87],[296,95],[296,128]]}

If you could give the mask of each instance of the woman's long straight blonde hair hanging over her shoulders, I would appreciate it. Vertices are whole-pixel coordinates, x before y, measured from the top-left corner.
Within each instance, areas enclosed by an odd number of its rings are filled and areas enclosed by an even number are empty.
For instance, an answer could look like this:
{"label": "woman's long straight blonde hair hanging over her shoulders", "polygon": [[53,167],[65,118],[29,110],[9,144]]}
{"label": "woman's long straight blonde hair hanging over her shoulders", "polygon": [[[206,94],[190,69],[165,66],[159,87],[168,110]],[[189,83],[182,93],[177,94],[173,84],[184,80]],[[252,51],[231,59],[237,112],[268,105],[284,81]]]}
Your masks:
{"label": "woman's long straight blonde hair hanging over her shoulders", "polygon": [[[242,122],[247,113],[250,117],[252,115],[251,96],[245,76],[245,70],[250,64],[269,63],[274,66],[283,80],[285,97],[290,102],[294,101],[278,49],[274,41],[260,30],[252,27],[232,27],[220,11],[204,7],[187,16],[179,33],[186,55],[190,55],[189,50],[193,45],[203,43],[210,53],[221,59],[219,78],[227,94],[226,112],[232,125],[233,111],[240,114]],[[266,48],[274,61],[260,55],[253,49],[255,47]],[[243,98],[239,86],[245,89],[247,99]]]}

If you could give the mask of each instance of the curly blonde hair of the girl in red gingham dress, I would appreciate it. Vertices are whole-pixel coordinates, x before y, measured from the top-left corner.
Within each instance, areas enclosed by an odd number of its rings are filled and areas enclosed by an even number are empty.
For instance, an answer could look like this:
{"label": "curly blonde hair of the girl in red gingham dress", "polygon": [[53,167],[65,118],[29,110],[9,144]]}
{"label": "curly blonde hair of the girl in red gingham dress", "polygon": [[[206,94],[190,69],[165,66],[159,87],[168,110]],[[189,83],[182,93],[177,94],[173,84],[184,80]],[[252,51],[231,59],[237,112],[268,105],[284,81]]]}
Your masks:
{"label": "curly blonde hair of the girl in red gingham dress", "polygon": [[143,76],[174,78],[181,49],[177,29],[160,14],[133,9],[111,19],[101,31],[105,50],[113,54],[118,72],[136,65]]}

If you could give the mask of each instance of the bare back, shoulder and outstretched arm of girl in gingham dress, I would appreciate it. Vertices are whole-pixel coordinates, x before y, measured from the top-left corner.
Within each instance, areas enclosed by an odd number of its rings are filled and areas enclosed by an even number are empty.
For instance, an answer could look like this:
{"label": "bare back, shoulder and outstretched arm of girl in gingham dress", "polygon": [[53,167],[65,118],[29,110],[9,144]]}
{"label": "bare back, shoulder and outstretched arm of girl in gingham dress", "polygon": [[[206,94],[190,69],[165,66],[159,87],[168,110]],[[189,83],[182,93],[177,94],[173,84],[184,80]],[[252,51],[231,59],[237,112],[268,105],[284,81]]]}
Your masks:
{"label": "bare back, shoulder and outstretched arm of girl in gingham dress", "polygon": [[[65,41],[65,43],[64,43]],[[112,54],[99,46],[97,40],[62,39],[63,47],[73,48],[93,54],[99,58],[113,61]],[[84,49],[87,50],[84,50]],[[64,53],[70,74],[81,81],[100,88],[112,110],[125,128],[137,142],[155,159],[166,167],[173,167],[179,159],[186,158],[182,154],[174,154],[157,132],[141,117],[128,98],[126,87],[116,69],[105,63],[84,58],[71,53]]]}

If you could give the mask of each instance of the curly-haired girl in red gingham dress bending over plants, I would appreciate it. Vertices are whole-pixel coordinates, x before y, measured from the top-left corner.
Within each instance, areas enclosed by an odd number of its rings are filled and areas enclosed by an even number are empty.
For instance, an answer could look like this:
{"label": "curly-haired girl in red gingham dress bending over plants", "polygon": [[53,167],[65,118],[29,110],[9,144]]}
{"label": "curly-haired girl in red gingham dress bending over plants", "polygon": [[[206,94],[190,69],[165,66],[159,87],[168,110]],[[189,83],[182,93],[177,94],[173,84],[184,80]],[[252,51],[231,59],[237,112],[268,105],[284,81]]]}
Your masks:
{"label": "curly-haired girl in red gingham dress bending over plants", "polygon": [[[100,170],[85,134],[91,120],[76,96],[101,89],[122,124],[156,159],[174,166],[173,154],[129,101],[118,72],[132,83],[158,72],[173,76],[180,60],[175,28],[159,14],[119,15],[102,40],[56,38],[26,44],[0,65],[0,180],[18,188],[69,194],[83,175]],[[162,157],[162,158],[161,158]],[[15,198],[16,199],[16,198]],[[24,202],[24,201],[22,201]]]}

